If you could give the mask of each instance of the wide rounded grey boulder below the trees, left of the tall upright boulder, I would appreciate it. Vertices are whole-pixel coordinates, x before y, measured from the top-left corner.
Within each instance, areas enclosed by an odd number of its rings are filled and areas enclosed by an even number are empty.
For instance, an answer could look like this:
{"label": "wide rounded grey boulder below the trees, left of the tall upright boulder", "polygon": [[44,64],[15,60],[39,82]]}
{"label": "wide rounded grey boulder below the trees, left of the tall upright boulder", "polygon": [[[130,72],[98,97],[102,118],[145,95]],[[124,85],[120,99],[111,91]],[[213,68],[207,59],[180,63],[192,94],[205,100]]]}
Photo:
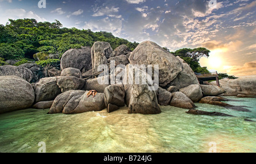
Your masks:
{"label": "wide rounded grey boulder below the trees, left of the tall upright boulder", "polygon": [[70,49],[66,51],[60,60],[60,68],[77,68],[82,73],[92,69],[92,58],[90,55],[90,47],[81,49]]}

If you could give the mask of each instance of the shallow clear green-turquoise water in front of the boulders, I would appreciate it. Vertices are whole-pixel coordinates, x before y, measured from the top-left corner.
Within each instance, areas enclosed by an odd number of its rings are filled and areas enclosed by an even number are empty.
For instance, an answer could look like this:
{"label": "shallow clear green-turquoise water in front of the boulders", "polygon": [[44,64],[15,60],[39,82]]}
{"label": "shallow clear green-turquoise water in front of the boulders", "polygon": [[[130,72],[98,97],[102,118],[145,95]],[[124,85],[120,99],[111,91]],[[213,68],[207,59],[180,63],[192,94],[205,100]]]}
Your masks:
{"label": "shallow clear green-turquoise water in front of the boulders", "polygon": [[26,109],[0,115],[0,152],[256,152],[256,99],[226,97],[251,112],[196,103],[197,109],[237,117],[191,115],[161,106],[158,115],[127,114],[127,107],[75,115]]}

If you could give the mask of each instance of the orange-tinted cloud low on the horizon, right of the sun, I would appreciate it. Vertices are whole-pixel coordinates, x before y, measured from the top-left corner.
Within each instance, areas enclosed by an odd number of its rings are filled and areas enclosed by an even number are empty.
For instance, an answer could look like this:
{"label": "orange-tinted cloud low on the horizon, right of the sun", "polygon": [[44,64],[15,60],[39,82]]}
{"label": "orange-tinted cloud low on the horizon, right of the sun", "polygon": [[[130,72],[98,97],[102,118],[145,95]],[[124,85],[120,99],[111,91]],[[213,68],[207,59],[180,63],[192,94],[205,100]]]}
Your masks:
{"label": "orange-tinted cloud low on the horizon, right of the sun", "polygon": [[229,66],[226,71],[229,75],[252,76],[256,75],[256,61],[244,63],[243,66]]}

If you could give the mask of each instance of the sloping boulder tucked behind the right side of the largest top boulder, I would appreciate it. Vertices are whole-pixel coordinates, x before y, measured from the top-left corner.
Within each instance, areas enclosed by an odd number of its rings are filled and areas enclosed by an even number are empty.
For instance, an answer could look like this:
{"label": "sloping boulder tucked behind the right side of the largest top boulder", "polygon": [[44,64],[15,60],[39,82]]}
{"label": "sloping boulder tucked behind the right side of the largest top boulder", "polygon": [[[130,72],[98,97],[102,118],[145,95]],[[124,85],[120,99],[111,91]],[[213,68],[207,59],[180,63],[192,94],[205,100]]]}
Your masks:
{"label": "sloping boulder tucked behind the right side of the largest top boulder", "polygon": [[182,71],[167,86],[176,86],[177,89],[188,87],[191,84],[199,84],[197,77],[191,67],[180,57],[177,57],[182,63]]}

